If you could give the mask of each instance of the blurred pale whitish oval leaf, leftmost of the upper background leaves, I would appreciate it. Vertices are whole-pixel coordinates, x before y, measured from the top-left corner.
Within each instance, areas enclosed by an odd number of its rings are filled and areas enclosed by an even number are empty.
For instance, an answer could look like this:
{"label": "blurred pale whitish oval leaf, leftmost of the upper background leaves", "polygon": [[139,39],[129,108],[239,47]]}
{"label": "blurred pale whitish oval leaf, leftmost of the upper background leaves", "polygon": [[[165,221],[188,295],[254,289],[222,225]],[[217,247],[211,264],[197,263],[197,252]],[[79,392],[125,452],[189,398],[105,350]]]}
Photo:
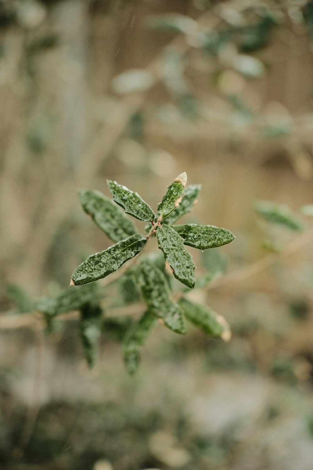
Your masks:
{"label": "blurred pale whitish oval leaf, leftmost of the upper background leaves", "polygon": [[152,74],[144,69],[132,69],[116,75],[112,80],[115,93],[128,94],[149,90],[154,85]]}

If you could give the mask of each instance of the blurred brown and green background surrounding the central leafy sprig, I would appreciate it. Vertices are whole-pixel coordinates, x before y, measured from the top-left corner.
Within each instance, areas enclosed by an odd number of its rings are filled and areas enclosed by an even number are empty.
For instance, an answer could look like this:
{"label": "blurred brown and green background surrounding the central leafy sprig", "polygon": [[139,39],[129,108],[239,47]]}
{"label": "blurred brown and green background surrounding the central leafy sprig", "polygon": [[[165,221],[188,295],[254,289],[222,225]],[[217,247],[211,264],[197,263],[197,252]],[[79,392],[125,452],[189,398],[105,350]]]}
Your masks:
{"label": "blurred brown and green background surrounding the central leafy sprig", "polygon": [[[312,39],[311,0],[0,1],[1,469],[312,470]],[[23,322],[112,244],[77,191],[113,179],[155,209],[184,171],[184,222],[236,235],[191,249],[226,272],[192,298],[233,338],[159,327],[128,376],[105,333],[90,371],[75,318]]]}

